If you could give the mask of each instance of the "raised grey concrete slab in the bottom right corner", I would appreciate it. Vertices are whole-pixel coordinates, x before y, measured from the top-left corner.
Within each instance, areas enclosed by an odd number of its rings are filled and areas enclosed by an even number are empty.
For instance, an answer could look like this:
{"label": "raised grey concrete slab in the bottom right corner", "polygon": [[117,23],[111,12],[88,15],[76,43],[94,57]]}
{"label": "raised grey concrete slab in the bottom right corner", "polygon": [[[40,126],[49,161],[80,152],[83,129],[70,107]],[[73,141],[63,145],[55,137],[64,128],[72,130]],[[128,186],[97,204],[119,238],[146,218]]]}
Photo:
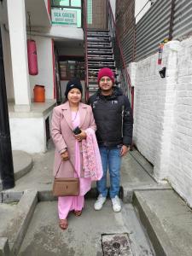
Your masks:
{"label": "raised grey concrete slab in the bottom right corner", "polygon": [[137,191],[133,203],[156,255],[192,255],[192,211],[173,190]]}

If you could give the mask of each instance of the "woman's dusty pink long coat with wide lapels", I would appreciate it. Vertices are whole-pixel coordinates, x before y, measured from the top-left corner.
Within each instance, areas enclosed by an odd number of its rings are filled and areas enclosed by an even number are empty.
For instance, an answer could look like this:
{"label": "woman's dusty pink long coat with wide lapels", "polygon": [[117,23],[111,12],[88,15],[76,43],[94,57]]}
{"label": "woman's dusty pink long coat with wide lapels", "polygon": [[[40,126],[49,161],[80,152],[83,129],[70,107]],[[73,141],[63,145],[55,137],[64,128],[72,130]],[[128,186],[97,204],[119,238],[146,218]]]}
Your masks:
{"label": "woman's dusty pink long coat with wide lapels", "polygon": [[[92,128],[96,131],[96,123],[93,117],[92,109],[89,105],[79,103],[79,128],[85,130]],[[70,160],[75,166],[75,138],[73,137],[73,123],[69,103],[66,102],[57,106],[53,110],[51,121],[51,136],[55,143],[55,163],[54,176],[59,170],[56,177],[74,177],[73,167],[69,161],[61,160],[60,151],[67,148]],[[81,154],[82,163],[82,154]],[[83,168],[80,177],[84,177]]]}

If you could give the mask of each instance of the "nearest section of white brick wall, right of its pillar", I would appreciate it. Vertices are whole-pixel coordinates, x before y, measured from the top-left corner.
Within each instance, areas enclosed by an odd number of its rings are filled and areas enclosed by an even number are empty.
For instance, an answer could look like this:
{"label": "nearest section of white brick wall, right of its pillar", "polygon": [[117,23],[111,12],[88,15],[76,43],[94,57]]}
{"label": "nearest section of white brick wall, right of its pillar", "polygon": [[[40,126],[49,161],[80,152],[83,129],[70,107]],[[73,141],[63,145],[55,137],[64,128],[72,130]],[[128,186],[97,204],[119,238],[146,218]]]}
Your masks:
{"label": "nearest section of white brick wall, right of its pillar", "polygon": [[192,207],[192,38],[180,46],[169,180]]}

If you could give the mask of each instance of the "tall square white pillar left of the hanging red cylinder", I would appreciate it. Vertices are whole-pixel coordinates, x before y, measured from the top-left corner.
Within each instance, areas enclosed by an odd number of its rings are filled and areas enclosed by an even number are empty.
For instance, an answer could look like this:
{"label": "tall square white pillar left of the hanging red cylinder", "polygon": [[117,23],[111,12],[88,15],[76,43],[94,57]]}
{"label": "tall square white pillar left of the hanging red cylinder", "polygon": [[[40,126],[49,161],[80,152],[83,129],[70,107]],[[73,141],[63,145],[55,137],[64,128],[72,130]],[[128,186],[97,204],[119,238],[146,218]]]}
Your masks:
{"label": "tall square white pillar left of the hanging red cylinder", "polygon": [[30,111],[31,95],[26,47],[25,0],[7,0],[15,111]]}

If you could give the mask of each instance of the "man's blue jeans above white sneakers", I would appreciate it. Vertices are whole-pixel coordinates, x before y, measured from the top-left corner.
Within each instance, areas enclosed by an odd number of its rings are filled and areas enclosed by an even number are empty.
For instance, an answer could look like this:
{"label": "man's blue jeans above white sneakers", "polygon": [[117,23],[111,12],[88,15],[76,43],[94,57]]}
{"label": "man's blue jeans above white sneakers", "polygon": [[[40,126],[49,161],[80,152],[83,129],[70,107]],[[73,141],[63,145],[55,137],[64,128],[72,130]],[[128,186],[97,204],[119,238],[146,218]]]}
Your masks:
{"label": "man's blue jeans above white sneakers", "polygon": [[96,183],[96,185],[97,185],[99,194],[102,194],[102,196],[104,197],[108,195],[108,188],[107,188],[107,172],[108,171],[110,176],[110,189],[109,189],[110,198],[115,197],[115,195],[119,195],[120,164],[121,164],[120,149],[121,148],[106,148],[106,147],[99,148],[101,158],[102,158],[103,176],[102,176],[102,179]]}

